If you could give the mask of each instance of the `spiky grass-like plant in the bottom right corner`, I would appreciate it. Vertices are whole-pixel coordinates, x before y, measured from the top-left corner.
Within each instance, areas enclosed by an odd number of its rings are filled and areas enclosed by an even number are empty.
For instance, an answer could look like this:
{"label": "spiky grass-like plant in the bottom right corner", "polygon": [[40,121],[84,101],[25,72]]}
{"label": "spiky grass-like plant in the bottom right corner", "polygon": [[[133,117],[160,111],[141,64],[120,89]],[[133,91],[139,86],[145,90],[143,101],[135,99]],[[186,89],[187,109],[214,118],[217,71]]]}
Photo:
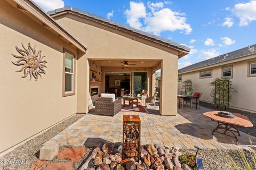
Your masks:
{"label": "spiky grass-like plant in the bottom right corner", "polygon": [[245,151],[242,149],[237,149],[236,150],[236,157],[238,157],[241,160],[241,165],[238,165],[233,157],[231,157],[228,152],[226,152],[226,155],[229,158],[228,164],[230,165],[231,169],[233,170],[253,170],[256,169],[256,151],[255,150],[250,150],[249,151],[249,156],[246,156]]}

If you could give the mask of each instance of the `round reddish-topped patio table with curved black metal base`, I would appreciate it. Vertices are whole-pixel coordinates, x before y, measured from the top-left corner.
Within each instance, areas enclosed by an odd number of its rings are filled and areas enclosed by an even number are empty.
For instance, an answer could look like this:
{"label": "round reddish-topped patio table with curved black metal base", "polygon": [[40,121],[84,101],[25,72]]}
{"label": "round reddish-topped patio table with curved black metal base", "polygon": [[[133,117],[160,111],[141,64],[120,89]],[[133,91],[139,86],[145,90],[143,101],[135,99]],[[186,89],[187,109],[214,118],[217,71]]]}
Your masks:
{"label": "round reddish-topped patio table with curved black metal base", "polygon": [[[227,117],[221,117],[218,115],[218,112],[220,111],[212,111],[212,112],[206,112],[203,113],[203,115],[211,118],[212,121],[217,121],[218,126],[212,131],[212,134],[214,132],[220,133],[220,134],[225,134],[229,137],[234,137],[236,138],[236,142],[238,141],[237,136],[234,132],[238,133],[238,136],[240,136],[239,131],[235,128],[235,126],[241,126],[241,127],[252,127],[253,124],[249,120],[247,116],[241,115],[239,113],[233,113],[235,115],[234,118],[227,118]],[[225,132],[220,132],[218,129],[225,130]],[[233,130],[235,129],[235,130]],[[230,132],[233,135],[226,134],[226,132]]]}

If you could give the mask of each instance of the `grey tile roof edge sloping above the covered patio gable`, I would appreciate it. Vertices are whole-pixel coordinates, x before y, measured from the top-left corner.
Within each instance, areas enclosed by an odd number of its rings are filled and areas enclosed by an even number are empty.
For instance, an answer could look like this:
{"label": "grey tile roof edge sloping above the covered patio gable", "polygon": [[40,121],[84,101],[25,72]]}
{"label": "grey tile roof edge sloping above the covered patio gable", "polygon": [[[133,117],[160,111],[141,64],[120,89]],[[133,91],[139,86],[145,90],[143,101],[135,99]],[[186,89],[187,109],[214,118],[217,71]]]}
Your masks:
{"label": "grey tile roof edge sloping above the covered patio gable", "polygon": [[61,12],[66,12],[66,11],[75,12],[75,13],[78,13],[78,14],[81,14],[81,15],[84,15],[84,16],[87,16],[87,17],[89,17],[89,18],[92,18],[92,19],[96,19],[96,20],[105,22],[105,23],[107,23],[107,24],[114,25],[114,26],[116,26],[116,27],[119,27],[119,28],[122,28],[122,29],[125,29],[125,30],[129,30],[129,31],[134,32],[134,33],[138,33],[139,35],[146,36],[146,37],[148,37],[148,38],[151,38],[151,39],[160,41],[161,43],[167,44],[167,45],[169,45],[169,46],[173,46],[173,47],[175,47],[175,48],[179,48],[179,49],[181,49],[181,50],[185,50],[186,52],[189,52],[189,51],[190,51],[190,48],[188,48],[188,47],[186,47],[186,46],[183,46],[183,45],[180,45],[180,44],[178,44],[178,43],[174,43],[173,41],[166,40],[166,39],[164,39],[164,38],[161,38],[161,37],[152,35],[152,34],[150,34],[150,33],[143,32],[143,31],[141,31],[141,30],[138,30],[138,29],[129,27],[129,26],[127,26],[127,25],[124,25],[124,24],[121,24],[121,23],[118,23],[118,22],[115,22],[115,21],[111,21],[111,20],[106,19],[106,18],[102,18],[102,17],[97,16],[97,15],[94,15],[94,14],[90,14],[90,13],[85,12],[85,11],[78,10],[78,9],[76,9],[76,8],[73,8],[73,7],[62,7],[62,8],[58,8],[58,9],[56,9],[56,10],[53,10],[53,11],[49,11],[49,12],[47,12],[47,13],[48,13],[49,15],[54,15],[54,14],[58,14],[58,13],[61,13]]}

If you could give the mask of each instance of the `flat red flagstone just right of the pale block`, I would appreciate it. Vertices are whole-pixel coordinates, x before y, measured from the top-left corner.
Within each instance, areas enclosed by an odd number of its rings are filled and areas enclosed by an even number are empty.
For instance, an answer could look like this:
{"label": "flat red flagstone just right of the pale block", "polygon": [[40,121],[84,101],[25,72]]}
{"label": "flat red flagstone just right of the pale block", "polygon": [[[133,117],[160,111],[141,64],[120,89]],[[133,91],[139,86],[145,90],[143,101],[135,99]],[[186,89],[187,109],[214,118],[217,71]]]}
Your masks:
{"label": "flat red flagstone just right of the pale block", "polygon": [[85,148],[66,148],[59,152],[58,159],[68,158],[73,161],[79,161],[86,154]]}

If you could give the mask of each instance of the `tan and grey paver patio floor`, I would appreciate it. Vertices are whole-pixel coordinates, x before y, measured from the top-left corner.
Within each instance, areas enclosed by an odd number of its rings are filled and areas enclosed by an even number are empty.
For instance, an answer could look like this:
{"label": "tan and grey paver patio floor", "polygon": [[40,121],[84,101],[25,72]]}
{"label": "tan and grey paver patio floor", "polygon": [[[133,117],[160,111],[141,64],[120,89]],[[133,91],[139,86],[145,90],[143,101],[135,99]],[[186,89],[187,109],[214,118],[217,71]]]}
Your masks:
{"label": "tan and grey paver patio floor", "polygon": [[[159,143],[165,146],[177,146],[183,149],[201,145],[207,149],[234,149],[235,138],[214,133],[217,122],[203,115],[210,109],[200,107],[178,109],[177,116],[162,116],[140,112],[120,112],[113,117],[86,114],[51,140],[60,145],[93,145],[100,139],[122,142],[123,115],[139,115],[141,119],[141,145]],[[250,147],[250,139],[255,145],[256,138],[241,132],[238,137],[240,147]]]}

